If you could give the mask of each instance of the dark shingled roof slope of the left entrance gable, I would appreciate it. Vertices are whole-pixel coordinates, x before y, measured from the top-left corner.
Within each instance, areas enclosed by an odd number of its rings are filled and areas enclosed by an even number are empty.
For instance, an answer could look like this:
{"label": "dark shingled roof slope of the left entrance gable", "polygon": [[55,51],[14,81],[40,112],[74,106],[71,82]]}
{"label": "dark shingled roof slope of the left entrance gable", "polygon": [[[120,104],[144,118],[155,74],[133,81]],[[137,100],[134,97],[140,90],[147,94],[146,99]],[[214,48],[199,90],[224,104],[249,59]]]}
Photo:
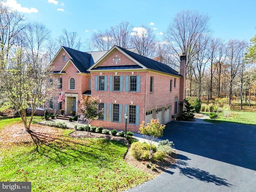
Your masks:
{"label": "dark shingled roof slope of the left entrance gable", "polygon": [[81,52],[68,47],[62,46],[66,52],[70,55],[70,59],[78,70],[82,73],[90,73],[87,69],[94,64],[91,54]]}

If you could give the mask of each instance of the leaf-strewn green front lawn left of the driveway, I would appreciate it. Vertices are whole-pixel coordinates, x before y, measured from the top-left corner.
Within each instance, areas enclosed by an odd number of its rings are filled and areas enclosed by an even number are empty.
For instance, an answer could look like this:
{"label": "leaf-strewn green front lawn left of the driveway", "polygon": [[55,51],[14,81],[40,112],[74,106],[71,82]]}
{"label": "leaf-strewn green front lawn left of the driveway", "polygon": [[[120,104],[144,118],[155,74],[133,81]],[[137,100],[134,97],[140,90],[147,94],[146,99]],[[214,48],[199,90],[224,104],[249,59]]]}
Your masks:
{"label": "leaf-strewn green front lawn left of the driveway", "polygon": [[69,138],[66,135],[72,130],[62,132],[51,142],[8,148],[0,144],[0,181],[32,182],[33,192],[93,192],[123,191],[152,179],[124,161],[126,145],[113,140]]}

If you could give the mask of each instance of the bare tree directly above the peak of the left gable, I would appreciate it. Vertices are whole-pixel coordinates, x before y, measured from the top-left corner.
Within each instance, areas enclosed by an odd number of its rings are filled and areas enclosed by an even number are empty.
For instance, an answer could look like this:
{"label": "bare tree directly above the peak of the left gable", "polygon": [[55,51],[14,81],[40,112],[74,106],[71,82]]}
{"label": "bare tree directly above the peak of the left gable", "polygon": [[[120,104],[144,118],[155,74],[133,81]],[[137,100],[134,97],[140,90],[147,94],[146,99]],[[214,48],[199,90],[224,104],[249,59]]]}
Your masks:
{"label": "bare tree directly above the peak of the left gable", "polygon": [[68,32],[66,29],[62,30],[63,35],[58,36],[57,41],[60,46],[65,46],[71,49],[80,50],[82,43],[76,32]]}

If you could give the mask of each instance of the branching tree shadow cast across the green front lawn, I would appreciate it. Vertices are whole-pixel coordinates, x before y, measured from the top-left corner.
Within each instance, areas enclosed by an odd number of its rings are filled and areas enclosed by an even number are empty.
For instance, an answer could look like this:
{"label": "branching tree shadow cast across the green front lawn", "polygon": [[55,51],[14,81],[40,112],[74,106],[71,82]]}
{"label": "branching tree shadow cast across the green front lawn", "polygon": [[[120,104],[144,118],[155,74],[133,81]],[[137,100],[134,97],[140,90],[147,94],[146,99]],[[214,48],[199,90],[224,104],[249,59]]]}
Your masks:
{"label": "branching tree shadow cast across the green front lawn", "polygon": [[111,153],[102,153],[104,147],[107,148],[109,143],[119,144],[119,142],[104,139],[76,140],[68,136],[41,134],[32,131],[29,134],[36,144],[35,152],[62,165],[67,165],[70,162],[108,161],[112,158]]}

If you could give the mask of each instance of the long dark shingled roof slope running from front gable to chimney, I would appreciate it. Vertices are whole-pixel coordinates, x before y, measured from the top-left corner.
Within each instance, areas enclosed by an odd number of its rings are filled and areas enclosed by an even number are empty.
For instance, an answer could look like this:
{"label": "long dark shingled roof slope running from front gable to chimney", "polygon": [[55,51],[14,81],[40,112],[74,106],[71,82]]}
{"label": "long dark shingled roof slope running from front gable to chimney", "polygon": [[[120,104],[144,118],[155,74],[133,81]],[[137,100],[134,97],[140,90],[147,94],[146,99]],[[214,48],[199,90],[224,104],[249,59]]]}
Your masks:
{"label": "long dark shingled roof slope running from front gable to chimney", "polygon": [[176,76],[182,76],[176,70],[170,68],[169,66],[163,63],[141,56],[134,52],[128,51],[122,47],[118,47],[118,48],[120,48],[123,52],[128,54],[130,57],[134,58],[136,61],[138,61],[140,64],[144,65],[148,69],[152,69],[152,70],[156,70],[156,71],[160,71],[160,72],[164,72],[164,73],[168,73]]}

